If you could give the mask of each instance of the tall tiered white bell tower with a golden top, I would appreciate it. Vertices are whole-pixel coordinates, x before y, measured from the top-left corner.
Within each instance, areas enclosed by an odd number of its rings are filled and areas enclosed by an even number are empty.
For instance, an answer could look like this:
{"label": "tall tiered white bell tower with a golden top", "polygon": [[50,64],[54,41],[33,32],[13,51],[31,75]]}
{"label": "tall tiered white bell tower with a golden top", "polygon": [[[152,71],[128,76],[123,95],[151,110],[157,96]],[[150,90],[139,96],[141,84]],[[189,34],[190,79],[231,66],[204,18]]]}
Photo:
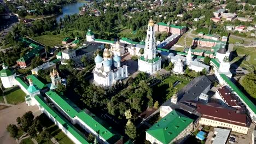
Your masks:
{"label": "tall tiered white bell tower with a golden top", "polygon": [[148,74],[154,74],[161,69],[161,57],[156,56],[156,39],[154,22],[150,19],[148,23],[147,37],[145,40],[144,55],[138,59],[138,70]]}

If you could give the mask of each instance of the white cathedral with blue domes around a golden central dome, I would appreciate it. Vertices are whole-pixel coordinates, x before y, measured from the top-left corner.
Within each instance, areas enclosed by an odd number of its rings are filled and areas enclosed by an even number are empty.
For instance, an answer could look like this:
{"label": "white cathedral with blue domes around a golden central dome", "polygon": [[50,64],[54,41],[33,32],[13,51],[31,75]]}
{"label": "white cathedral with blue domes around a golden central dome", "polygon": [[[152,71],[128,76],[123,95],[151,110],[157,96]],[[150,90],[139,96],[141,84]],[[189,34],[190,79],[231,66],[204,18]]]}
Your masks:
{"label": "white cathedral with blue domes around a golden central dome", "polygon": [[128,77],[127,65],[121,65],[121,57],[117,53],[104,49],[103,58],[97,54],[94,59],[94,82],[96,85],[110,87]]}

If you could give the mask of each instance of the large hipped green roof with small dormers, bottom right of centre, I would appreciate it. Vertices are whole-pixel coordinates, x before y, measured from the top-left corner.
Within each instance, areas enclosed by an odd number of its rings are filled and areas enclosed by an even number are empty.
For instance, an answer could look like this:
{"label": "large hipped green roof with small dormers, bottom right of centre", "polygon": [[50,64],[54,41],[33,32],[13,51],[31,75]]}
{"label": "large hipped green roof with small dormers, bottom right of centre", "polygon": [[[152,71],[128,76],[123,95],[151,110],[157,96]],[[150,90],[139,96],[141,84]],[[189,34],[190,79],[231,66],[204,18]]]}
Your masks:
{"label": "large hipped green roof with small dormers, bottom right of centre", "polygon": [[146,132],[160,142],[168,144],[192,122],[193,119],[173,110]]}

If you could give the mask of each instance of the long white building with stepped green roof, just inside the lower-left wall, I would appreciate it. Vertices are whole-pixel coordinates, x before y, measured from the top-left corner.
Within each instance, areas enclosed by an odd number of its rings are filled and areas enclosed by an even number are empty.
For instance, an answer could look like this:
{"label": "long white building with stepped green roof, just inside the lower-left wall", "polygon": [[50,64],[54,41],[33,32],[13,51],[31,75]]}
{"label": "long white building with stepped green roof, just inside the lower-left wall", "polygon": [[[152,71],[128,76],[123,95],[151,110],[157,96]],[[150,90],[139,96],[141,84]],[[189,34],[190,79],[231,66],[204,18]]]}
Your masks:
{"label": "long white building with stepped green roof, just inside the lower-left wall", "polygon": [[57,110],[65,116],[72,124],[78,124],[81,128],[98,136],[98,139],[104,143],[115,143],[120,140],[119,135],[112,132],[111,127],[104,127],[102,123],[98,122],[95,116],[90,116],[88,113],[81,111],[78,107],[69,101],[67,98],[63,99],[60,95],[53,91],[45,93],[46,96],[53,101]]}

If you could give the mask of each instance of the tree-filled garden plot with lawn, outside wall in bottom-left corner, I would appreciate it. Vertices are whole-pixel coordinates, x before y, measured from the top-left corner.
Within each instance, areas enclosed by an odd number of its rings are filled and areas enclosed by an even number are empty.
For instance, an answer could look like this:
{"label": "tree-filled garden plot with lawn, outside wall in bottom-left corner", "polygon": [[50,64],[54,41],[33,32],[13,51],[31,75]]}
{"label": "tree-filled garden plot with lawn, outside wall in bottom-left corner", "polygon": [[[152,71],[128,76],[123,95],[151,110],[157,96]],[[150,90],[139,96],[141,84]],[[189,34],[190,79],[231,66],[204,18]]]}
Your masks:
{"label": "tree-filled garden plot with lawn, outside wall in bottom-left corner", "polygon": [[53,137],[59,143],[73,144],[44,113],[34,118],[33,113],[28,111],[22,117],[18,117],[16,121],[18,125],[9,124],[7,131],[20,143],[33,143],[32,139],[34,139],[39,144],[53,144],[51,141]]}

